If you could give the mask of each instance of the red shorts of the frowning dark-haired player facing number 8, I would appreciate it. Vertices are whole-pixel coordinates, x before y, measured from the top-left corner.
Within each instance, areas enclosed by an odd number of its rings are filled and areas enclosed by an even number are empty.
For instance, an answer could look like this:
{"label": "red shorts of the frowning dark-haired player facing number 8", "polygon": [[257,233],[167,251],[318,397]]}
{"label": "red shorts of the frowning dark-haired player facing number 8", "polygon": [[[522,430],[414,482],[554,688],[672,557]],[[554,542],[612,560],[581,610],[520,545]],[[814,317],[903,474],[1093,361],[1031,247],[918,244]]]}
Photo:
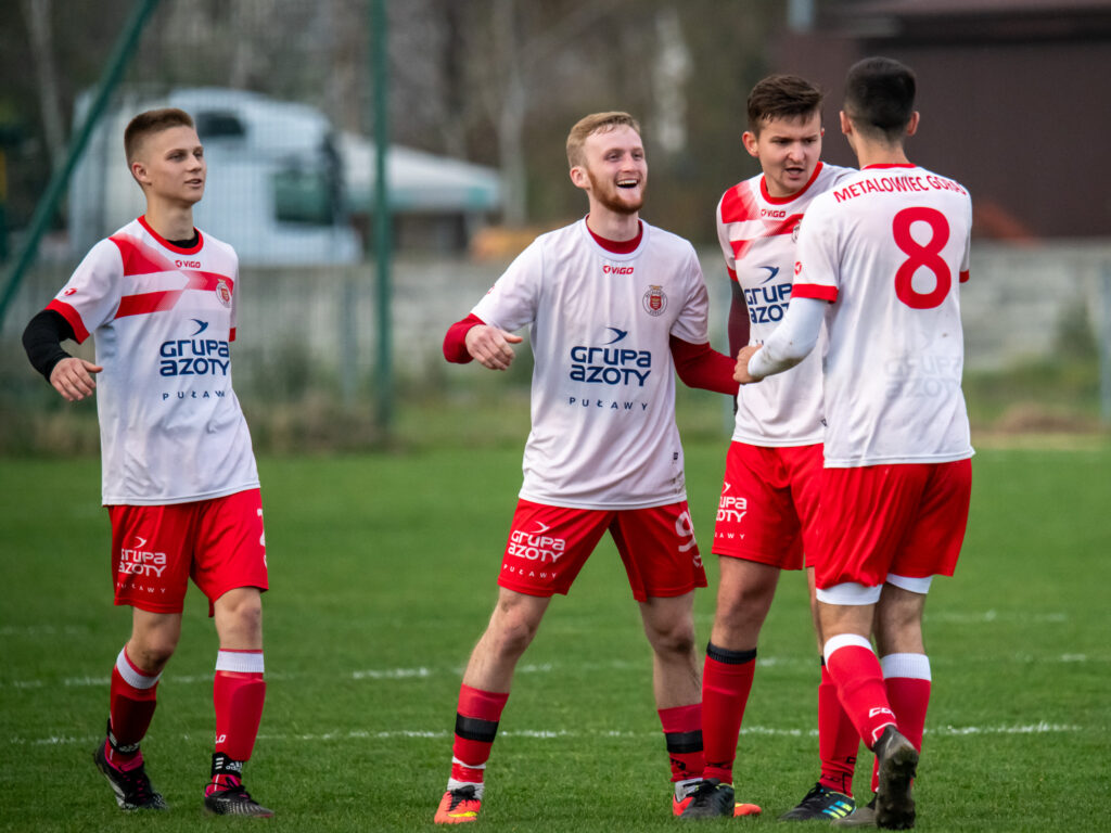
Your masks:
{"label": "red shorts of the frowning dark-haired player facing number 8", "polygon": [[801,570],[817,553],[822,446],[729,444],[713,552]]}

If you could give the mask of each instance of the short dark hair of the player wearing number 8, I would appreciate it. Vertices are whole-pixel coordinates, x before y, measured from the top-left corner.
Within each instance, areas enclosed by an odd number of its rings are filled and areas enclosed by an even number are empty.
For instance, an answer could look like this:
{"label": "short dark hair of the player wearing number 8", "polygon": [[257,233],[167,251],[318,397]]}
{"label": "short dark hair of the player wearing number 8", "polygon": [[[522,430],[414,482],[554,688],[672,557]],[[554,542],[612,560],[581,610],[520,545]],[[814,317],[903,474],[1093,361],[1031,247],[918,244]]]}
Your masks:
{"label": "short dark hair of the player wearing number 8", "polygon": [[914,114],[914,70],[893,58],[865,58],[849,68],[844,112],[857,130],[898,141]]}

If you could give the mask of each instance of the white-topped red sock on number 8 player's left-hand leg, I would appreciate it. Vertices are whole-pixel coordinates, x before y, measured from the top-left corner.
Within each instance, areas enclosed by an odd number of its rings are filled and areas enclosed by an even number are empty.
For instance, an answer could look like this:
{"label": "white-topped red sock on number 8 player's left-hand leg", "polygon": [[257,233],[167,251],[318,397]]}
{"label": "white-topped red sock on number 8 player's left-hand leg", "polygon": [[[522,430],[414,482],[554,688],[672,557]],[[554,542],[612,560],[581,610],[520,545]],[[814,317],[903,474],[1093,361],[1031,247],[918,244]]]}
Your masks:
{"label": "white-topped red sock on number 8 player's left-hand leg", "polygon": [[841,634],[825,641],[825,668],[837,683],[838,696],[864,745],[871,749],[883,727],[894,725],[880,661],[863,636]]}

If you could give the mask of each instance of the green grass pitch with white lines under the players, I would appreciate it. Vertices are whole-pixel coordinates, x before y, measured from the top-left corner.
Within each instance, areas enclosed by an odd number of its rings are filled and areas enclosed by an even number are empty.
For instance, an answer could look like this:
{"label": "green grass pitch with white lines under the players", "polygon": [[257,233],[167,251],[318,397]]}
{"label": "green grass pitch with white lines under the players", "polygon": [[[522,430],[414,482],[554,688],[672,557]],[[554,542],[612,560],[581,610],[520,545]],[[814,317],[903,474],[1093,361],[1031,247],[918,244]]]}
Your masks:
{"label": "green grass pitch with white lines under the players", "polygon": [[[723,452],[723,440],[688,442],[704,553]],[[494,598],[520,439],[260,468],[273,590],[248,785],[290,831],[432,831],[461,666]],[[985,449],[973,471],[961,564],[928,606],[934,694],[919,829],[1111,830],[1111,444]],[[196,589],[143,743],[172,811],[124,816],[91,764],[129,629],[128,611],[110,603],[98,494],[96,460],[0,461],[0,830],[239,826],[200,811],[217,643]],[[713,586],[712,559],[709,570]],[[764,815],[711,827],[774,826],[817,775],[801,576],[785,576],[779,595],[738,759],[739,797]],[[704,642],[711,592],[697,610]],[[611,544],[553,603],[501,726],[484,829],[674,829],[649,650]],[[859,794],[869,766],[865,754]]]}

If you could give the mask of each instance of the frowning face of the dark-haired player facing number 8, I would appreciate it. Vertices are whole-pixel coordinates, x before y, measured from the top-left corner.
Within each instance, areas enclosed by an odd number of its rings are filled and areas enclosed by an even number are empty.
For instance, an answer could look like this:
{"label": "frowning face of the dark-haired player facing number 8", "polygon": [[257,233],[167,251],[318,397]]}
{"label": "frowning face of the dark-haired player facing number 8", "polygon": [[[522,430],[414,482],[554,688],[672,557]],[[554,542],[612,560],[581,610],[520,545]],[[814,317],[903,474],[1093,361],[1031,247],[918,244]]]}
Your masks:
{"label": "frowning face of the dark-haired player facing number 8", "polygon": [[755,157],[764,173],[768,193],[791,197],[814,175],[822,154],[822,116],[767,119],[758,134],[745,131],[744,149]]}

